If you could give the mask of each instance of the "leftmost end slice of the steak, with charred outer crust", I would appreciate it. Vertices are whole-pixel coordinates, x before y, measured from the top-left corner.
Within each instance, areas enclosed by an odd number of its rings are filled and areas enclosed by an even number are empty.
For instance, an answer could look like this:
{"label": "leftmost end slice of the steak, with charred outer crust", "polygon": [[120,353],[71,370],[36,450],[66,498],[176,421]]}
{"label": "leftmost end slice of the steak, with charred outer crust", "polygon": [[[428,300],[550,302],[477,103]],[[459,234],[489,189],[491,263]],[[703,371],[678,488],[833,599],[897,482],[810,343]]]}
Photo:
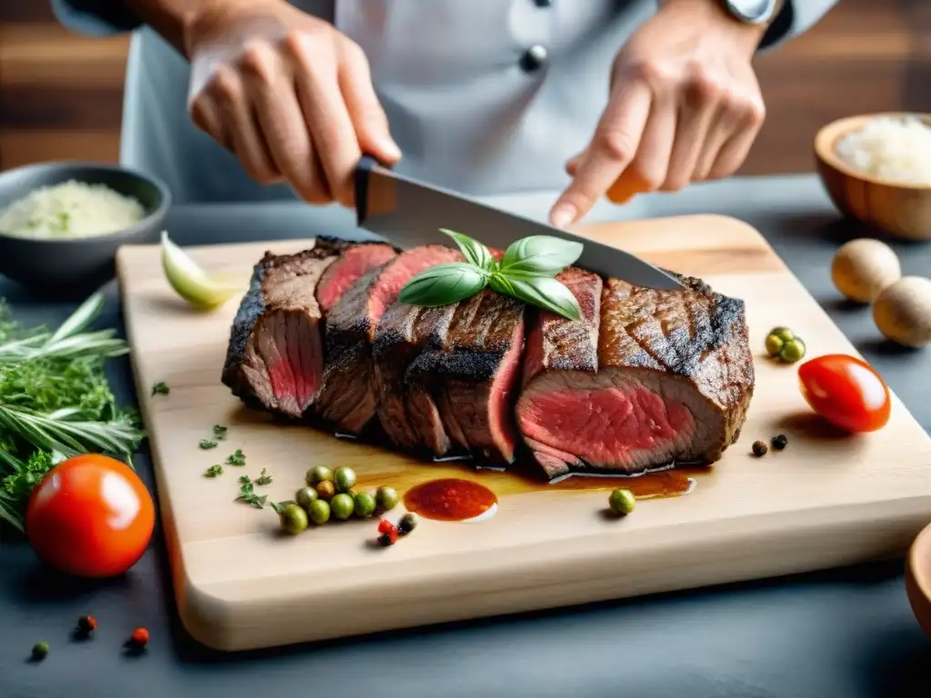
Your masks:
{"label": "leftmost end slice of the steak, with charred outer crust", "polygon": [[223,366],[223,383],[249,403],[298,418],[323,369],[317,281],[346,243],[318,238],[292,255],[265,253],[239,305]]}

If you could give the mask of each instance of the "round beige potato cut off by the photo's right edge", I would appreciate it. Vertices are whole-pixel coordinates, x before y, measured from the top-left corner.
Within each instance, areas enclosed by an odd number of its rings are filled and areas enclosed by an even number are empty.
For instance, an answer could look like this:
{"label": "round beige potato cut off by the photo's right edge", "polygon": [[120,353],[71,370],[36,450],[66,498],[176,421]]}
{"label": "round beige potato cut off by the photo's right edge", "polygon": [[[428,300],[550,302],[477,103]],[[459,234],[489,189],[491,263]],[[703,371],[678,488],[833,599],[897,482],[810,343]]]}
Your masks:
{"label": "round beige potato cut off by the photo's right edge", "polygon": [[904,346],[931,343],[931,279],[903,276],[885,289],[873,303],[873,322]]}

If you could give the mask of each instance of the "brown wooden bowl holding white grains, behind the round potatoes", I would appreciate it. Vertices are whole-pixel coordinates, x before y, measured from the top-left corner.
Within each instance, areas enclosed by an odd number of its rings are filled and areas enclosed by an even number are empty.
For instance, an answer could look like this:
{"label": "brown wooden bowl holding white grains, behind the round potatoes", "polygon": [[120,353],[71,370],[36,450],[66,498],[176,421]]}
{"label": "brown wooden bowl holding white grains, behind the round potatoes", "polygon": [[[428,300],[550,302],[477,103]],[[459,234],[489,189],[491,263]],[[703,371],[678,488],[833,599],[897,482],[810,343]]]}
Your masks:
{"label": "brown wooden bowl holding white grains, behind the round potatoes", "polygon": [[931,240],[931,184],[904,184],[871,177],[851,168],[837,154],[837,143],[851,131],[882,116],[918,116],[931,126],[929,114],[862,114],[835,121],[815,137],[817,171],[831,200],[844,215],[875,226],[886,235]]}

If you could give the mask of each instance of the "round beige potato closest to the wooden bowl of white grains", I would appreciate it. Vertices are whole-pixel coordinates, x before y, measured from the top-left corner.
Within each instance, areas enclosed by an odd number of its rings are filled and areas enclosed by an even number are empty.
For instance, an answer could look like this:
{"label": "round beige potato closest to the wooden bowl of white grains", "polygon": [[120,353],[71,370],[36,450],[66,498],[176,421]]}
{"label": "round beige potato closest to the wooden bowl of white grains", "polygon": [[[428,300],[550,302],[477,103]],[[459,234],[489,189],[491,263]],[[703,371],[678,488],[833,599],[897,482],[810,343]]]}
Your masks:
{"label": "round beige potato closest to the wooden bowl of white grains", "polygon": [[871,303],[901,277],[902,268],[892,248],[864,237],[837,250],[830,275],[834,286],[851,301]]}

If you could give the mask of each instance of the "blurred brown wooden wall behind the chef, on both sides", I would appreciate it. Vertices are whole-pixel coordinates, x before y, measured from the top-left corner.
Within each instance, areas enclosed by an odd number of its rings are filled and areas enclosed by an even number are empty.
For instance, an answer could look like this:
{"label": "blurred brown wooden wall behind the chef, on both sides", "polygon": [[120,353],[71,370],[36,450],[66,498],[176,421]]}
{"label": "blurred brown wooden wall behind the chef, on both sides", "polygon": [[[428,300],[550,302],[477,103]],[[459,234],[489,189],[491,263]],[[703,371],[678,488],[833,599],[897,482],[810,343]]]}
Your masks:
{"label": "blurred brown wooden wall behind the chef, on both sides", "polygon": [[[69,34],[43,0],[2,0],[0,169],[115,161],[127,47]],[[810,170],[812,137],[832,119],[931,112],[931,0],[842,0],[758,74],[769,117],[742,173]]]}

